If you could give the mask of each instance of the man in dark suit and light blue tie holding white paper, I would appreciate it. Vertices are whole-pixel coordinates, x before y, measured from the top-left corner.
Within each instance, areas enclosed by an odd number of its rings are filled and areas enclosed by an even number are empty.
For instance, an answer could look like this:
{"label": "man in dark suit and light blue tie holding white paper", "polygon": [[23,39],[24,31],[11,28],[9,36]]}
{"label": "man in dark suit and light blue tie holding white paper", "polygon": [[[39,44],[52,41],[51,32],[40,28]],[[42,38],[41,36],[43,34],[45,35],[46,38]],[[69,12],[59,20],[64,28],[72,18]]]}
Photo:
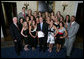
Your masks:
{"label": "man in dark suit and light blue tie holding white paper", "polygon": [[37,33],[38,31],[42,31],[44,33],[44,37],[40,37],[39,38],[39,51],[45,52],[46,48],[47,48],[47,35],[48,35],[48,24],[43,22],[43,18],[40,17],[39,18],[40,23],[37,24]]}

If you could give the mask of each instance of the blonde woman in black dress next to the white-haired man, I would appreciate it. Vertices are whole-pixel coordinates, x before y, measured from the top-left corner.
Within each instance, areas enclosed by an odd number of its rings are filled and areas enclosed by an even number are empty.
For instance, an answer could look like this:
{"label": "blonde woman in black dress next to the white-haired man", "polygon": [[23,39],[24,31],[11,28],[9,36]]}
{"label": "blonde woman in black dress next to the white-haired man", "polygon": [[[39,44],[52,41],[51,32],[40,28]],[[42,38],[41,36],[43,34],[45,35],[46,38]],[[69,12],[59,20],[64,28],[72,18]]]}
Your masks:
{"label": "blonde woman in black dress next to the white-haired man", "polygon": [[29,30],[28,30],[27,22],[24,22],[23,23],[23,28],[21,30],[21,34],[24,37],[24,43],[25,43],[24,50],[27,51],[27,50],[29,50],[27,48],[28,47],[28,44],[29,44],[29,39],[28,39]]}

